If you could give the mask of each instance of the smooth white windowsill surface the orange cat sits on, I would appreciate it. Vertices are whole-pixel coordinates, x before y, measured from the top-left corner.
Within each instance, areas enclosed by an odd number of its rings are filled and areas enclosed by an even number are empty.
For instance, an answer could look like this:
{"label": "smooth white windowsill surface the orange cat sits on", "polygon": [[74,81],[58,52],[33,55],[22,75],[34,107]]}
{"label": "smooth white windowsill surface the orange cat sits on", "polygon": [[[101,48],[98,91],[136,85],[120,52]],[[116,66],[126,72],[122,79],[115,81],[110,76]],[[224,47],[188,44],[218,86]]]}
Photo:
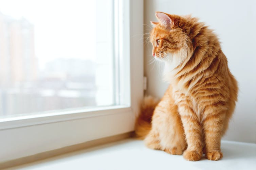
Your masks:
{"label": "smooth white windowsill surface the orange cat sits on", "polygon": [[176,170],[176,169],[256,169],[256,144],[222,141],[223,158],[197,162],[185,161],[181,155],[145,147],[143,141],[126,139],[92,147],[6,170]]}

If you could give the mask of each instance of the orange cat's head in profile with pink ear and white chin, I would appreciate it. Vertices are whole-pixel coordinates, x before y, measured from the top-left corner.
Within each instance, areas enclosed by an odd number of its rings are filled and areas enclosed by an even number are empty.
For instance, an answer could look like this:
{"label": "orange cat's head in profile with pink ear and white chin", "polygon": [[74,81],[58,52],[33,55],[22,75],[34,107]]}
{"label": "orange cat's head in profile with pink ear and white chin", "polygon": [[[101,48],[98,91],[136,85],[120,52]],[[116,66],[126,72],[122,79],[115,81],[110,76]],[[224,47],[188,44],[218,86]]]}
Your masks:
{"label": "orange cat's head in profile with pink ear and white chin", "polygon": [[187,57],[191,40],[187,29],[187,18],[156,12],[158,22],[152,22],[154,28],[150,34],[152,55],[157,59],[178,66]]}

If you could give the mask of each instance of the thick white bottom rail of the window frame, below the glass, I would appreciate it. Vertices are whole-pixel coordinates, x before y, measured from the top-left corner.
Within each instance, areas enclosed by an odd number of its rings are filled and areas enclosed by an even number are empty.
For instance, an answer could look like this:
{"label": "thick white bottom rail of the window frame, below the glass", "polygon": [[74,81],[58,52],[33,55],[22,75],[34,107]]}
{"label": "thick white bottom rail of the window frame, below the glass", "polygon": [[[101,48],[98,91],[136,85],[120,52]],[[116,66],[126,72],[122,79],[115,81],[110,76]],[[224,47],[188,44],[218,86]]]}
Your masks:
{"label": "thick white bottom rail of the window frame, below the glass", "polygon": [[[4,137],[0,146],[0,163],[130,132],[134,130],[135,121],[131,107],[53,117],[58,121],[51,122],[48,116],[44,116],[14,120],[10,124],[0,122],[1,127],[4,123],[6,126],[18,126],[0,130],[0,136]],[[32,120],[38,122],[30,125],[34,123]]]}

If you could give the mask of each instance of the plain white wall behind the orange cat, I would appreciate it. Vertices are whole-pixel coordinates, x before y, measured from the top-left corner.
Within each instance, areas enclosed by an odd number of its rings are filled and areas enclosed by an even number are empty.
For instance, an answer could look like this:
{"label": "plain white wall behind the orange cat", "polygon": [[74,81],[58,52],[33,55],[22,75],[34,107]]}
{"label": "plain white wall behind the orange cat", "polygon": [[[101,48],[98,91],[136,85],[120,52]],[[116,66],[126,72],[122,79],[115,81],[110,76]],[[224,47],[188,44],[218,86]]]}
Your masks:
{"label": "plain white wall behind the orange cat", "polygon": [[[157,21],[155,11],[192,14],[219,35],[228,66],[239,82],[239,98],[225,140],[256,143],[256,1],[254,0],[144,0],[144,30]],[[147,26],[148,25],[148,26]],[[145,45],[147,94],[162,97],[168,84],[162,81],[161,64],[151,64],[152,47]]]}

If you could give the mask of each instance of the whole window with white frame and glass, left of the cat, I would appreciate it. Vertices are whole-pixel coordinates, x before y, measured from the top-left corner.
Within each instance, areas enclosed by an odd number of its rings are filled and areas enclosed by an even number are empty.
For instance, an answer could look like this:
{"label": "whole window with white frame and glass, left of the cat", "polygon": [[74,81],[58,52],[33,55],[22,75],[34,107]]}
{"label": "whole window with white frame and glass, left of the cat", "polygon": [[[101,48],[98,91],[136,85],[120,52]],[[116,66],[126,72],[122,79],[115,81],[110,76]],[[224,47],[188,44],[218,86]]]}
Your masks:
{"label": "whole window with white frame and glass, left of the cat", "polygon": [[133,130],[143,1],[3,0],[0,12],[2,162]]}

